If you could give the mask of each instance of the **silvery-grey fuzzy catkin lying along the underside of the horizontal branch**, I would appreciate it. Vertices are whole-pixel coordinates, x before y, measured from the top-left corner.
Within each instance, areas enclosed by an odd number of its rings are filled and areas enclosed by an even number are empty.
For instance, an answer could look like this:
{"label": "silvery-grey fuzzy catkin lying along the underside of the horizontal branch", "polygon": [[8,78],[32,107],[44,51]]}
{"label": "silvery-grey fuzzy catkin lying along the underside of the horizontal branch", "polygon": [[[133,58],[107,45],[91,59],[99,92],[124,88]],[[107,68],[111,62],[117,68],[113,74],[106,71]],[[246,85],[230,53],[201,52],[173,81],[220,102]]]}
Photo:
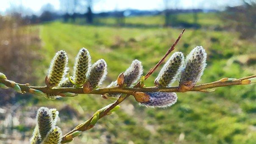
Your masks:
{"label": "silvery-grey fuzzy catkin lying along the underside of the horizontal branch", "polygon": [[174,92],[146,92],[150,96],[148,102],[140,102],[140,105],[151,108],[166,108],[177,102],[177,94]]}

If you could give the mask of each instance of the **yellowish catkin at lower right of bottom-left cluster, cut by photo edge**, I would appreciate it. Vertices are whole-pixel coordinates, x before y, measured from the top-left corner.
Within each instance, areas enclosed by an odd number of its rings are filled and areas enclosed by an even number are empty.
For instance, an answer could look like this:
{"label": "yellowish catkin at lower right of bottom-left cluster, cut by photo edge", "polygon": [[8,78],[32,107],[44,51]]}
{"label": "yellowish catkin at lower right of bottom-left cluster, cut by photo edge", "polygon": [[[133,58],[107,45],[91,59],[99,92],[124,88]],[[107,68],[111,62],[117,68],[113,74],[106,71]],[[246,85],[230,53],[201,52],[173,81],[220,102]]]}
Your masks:
{"label": "yellowish catkin at lower right of bottom-left cluster, cut by photo edge", "polygon": [[60,144],[62,138],[62,132],[59,127],[53,127],[48,133],[42,144]]}

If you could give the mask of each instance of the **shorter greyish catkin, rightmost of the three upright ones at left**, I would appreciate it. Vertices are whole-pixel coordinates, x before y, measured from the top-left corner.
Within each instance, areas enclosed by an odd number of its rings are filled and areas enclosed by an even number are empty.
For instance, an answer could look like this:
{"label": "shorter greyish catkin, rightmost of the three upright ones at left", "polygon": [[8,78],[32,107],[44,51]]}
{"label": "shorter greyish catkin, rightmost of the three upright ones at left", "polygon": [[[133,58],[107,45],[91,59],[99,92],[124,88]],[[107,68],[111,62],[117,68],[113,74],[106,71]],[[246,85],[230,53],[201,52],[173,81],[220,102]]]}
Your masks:
{"label": "shorter greyish catkin, rightmost of the three upright ones at left", "polygon": [[106,75],[107,75],[106,61],[103,59],[100,59],[92,65],[87,81],[90,83],[90,86],[92,88],[95,88],[96,86],[101,85],[103,80],[105,80]]}

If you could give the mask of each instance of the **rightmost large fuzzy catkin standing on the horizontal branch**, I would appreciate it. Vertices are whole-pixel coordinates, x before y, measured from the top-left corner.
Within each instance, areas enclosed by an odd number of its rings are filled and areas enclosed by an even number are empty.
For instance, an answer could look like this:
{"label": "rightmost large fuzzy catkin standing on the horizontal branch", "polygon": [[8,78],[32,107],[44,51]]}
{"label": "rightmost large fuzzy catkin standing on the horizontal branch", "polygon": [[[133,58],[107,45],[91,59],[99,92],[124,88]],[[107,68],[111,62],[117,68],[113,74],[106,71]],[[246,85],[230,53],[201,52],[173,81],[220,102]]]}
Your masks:
{"label": "rightmost large fuzzy catkin standing on the horizontal branch", "polygon": [[195,86],[203,75],[206,67],[206,52],[202,46],[195,47],[185,60],[185,69],[181,72],[180,85],[191,82],[190,86]]}

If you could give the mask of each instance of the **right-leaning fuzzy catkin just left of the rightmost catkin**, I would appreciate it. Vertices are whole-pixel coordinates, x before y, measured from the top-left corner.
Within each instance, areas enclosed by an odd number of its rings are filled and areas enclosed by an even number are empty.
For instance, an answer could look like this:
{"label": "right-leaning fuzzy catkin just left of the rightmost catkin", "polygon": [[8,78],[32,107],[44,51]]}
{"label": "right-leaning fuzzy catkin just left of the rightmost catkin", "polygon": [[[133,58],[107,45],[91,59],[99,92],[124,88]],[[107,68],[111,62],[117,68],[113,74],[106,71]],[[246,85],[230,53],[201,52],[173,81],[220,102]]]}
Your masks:
{"label": "right-leaning fuzzy catkin just left of the rightmost catkin", "polygon": [[155,80],[158,87],[170,86],[183,70],[184,56],[181,52],[175,52],[164,64]]}

